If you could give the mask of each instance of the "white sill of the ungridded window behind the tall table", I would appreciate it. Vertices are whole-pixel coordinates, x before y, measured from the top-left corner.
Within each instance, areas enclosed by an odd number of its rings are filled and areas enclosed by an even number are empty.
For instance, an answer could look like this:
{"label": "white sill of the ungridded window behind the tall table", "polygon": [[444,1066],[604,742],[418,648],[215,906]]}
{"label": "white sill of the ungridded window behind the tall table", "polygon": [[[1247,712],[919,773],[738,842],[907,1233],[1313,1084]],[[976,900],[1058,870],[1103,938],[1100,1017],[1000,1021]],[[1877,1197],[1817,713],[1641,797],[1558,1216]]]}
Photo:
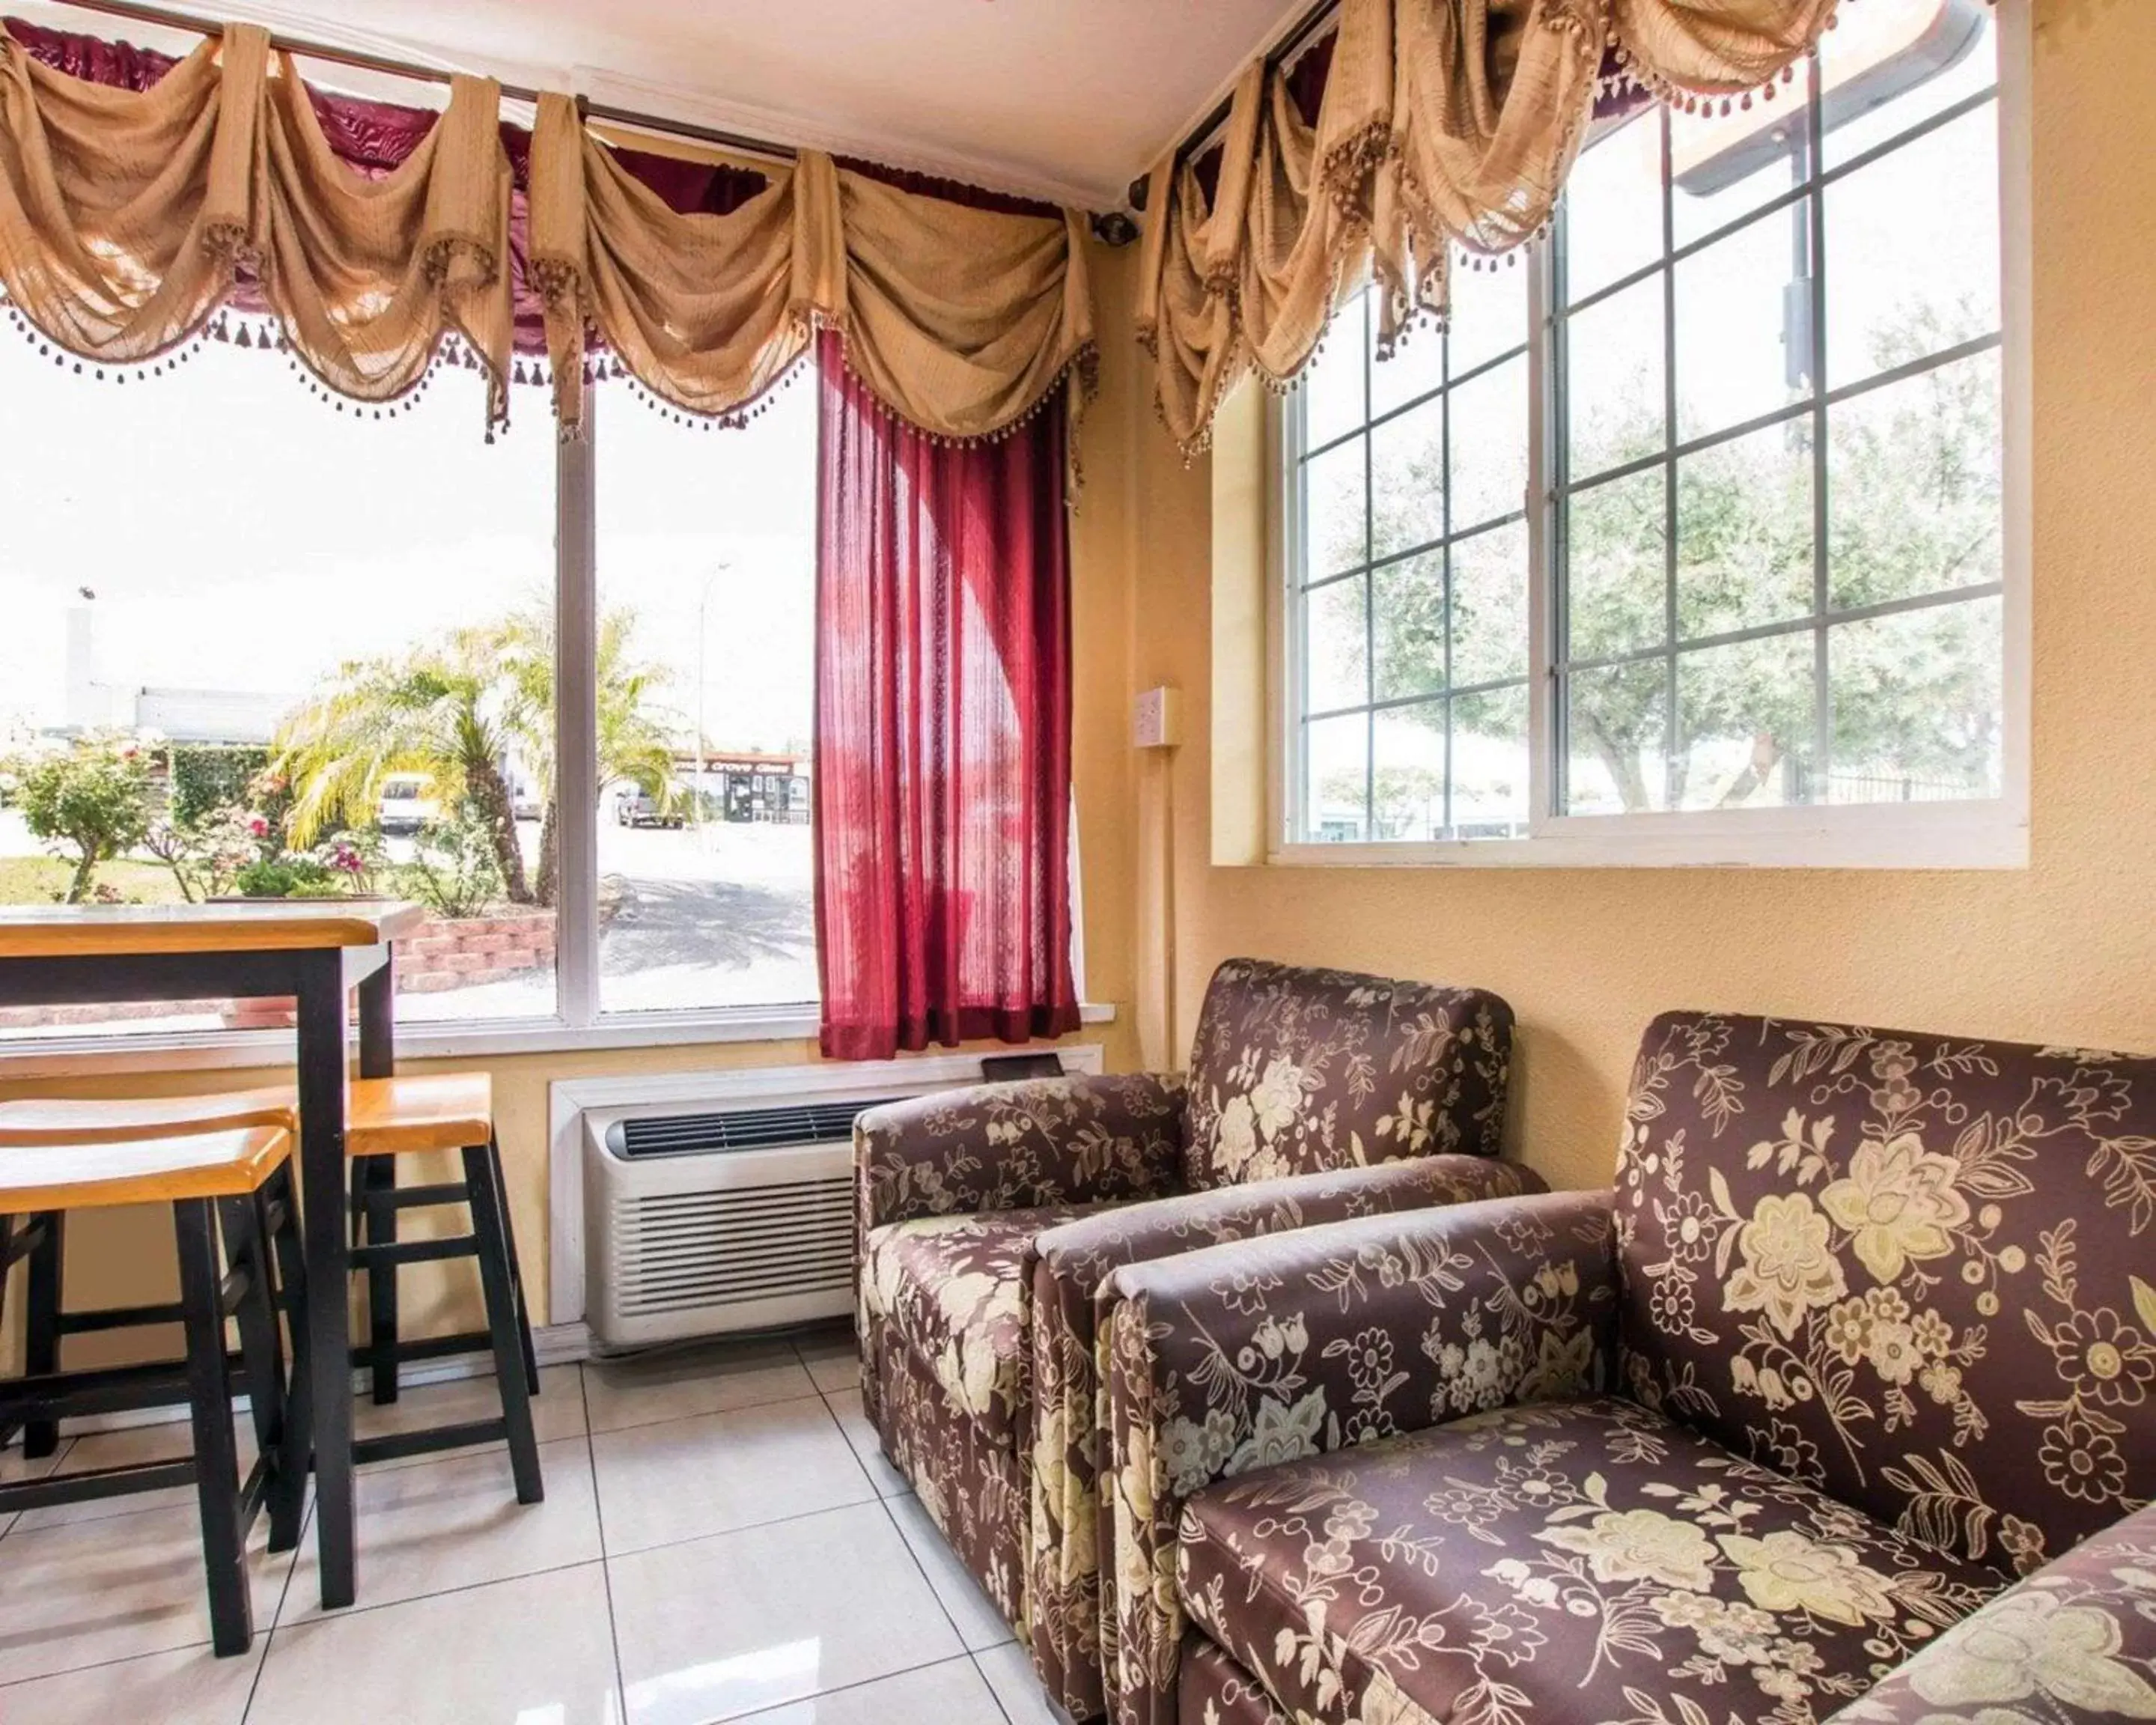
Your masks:
{"label": "white sill of the ungridded window behind the tall table", "polygon": [[[1112,1024],[1115,1007],[1087,1003],[1084,1024]],[[513,1054],[576,1054],[604,1048],[707,1048],[729,1041],[815,1041],[817,1013],[800,1007],[727,1013],[621,1013],[571,1026],[558,1018],[498,1024],[401,1024],[405,1061],[470,1061]],[[65,1078],[86,1072],[218,1072],[291,1063],[289,1031],[181,1031],[168,1035],[24,1037],[0,1046],[0,1080]]]}

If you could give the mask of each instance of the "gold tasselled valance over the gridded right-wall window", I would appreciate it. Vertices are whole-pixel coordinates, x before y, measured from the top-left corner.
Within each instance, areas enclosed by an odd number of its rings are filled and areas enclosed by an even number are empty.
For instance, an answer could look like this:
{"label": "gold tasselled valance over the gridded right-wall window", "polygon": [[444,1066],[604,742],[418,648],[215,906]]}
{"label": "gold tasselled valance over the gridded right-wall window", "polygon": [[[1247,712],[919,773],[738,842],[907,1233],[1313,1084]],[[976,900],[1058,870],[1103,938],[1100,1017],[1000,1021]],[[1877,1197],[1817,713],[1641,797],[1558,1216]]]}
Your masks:
{"label": "gold tasselled valance over the gridded right-wall window", "polygon": [[1442,317],[1449,257],[1503,252],[1557,207],[1604,47],[1664,97],[1770,84],[1835,0],[1343,0],[1317,123],[1285,71],[1235,88],[1212,198],[1192,164],[1153,168],[1138,339],[1184,453],[1244,373],[1311,362],[1341,289],[1384,289],[1380,347]]}

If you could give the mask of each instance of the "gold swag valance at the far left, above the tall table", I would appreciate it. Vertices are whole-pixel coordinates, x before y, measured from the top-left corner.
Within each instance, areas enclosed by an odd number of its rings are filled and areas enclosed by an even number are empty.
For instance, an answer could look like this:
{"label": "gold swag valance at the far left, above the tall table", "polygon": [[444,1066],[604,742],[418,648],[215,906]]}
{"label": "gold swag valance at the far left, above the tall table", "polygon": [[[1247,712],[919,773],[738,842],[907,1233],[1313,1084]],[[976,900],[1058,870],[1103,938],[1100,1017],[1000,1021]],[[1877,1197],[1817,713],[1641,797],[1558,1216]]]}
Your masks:
{"label": "gold swag valance at the far left, above the tall table", "polygon": [[509,157],[494,82],[459,78],[395,172],[356,175],[257,26],[147,91],[39,65],[0,32],[0,289],[86,360],[198,334],[241,270],[326,388],[390,401],[461,334],[507,416]]}

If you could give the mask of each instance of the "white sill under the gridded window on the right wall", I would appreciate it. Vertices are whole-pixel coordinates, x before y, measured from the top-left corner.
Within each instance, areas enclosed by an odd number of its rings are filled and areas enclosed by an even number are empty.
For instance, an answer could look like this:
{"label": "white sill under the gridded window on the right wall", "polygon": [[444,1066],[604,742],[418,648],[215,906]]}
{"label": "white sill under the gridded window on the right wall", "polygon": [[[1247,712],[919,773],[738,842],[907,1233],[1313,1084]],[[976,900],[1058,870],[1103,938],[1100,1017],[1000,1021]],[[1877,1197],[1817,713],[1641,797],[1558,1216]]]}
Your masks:
{"label": "white sill under the gridded window on the right wall", "polygon": [[1570,815],[1526,839],[1294,843],[1291,869],[2027,869],[2029,819],[2009,802]]}

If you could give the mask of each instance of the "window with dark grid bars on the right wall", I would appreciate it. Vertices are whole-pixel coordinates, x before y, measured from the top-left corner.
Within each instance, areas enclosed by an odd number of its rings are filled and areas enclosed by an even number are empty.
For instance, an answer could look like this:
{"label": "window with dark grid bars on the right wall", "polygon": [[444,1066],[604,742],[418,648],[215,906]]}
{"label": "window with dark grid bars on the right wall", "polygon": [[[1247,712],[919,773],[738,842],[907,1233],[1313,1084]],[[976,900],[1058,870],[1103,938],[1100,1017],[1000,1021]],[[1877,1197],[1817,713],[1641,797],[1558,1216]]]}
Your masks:
{"label": "window with dark grid bars on the right wall", "polygon": [[1343,313],[1283,414],[1289,845],[2018,854],[1996,28],[1865,6],[1591,138],[1447,336]]}

